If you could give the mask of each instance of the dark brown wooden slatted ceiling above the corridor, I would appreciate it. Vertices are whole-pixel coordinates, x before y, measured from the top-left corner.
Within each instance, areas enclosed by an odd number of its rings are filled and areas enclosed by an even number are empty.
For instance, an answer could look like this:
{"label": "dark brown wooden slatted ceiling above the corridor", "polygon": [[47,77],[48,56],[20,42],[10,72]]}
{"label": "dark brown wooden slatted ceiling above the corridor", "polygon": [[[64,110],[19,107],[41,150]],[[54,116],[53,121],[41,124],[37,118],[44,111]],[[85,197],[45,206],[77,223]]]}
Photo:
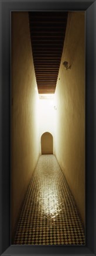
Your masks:
{"label": "dark brown wooden slatted ceiling above the corridor", "polygon": [[39,93],[55,92],[67,16],[67,11],[29,12],[30,39]]}

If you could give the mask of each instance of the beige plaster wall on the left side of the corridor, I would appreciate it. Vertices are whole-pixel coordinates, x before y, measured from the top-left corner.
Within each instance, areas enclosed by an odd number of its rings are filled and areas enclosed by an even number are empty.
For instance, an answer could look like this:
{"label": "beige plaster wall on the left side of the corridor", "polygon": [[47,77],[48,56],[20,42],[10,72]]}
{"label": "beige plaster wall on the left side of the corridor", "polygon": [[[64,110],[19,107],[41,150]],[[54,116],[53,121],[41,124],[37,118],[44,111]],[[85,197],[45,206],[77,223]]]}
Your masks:
{"label": "beige plaster wall on the left side of the corridor", "polygon": [[28,12],[12,12],[12,235],[39,157],[39,116]]}

